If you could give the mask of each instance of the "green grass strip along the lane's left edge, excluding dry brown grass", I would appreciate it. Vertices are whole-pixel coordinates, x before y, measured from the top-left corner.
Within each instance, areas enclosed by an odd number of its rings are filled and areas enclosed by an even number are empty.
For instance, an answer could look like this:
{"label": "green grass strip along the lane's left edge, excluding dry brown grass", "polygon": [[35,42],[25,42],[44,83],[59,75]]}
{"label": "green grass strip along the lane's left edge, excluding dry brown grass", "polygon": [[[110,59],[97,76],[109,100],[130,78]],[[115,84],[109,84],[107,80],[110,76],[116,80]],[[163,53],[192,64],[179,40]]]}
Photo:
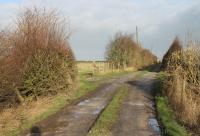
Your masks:
{"label": "green grass strip along the lane's left edge, excluding dry brown grass", "polygon": [[[66,100],[66,96],[64,95],[58,95],[58,96],[53,97],[52,98],[53,103],[51,103],[51,106],[45,112],[41,113],[38,116],[32,117],[29,120],[25,120],[20,125],[19,128],[16,128],[11,131],[8,129],[8,131],[4,132],[3,135],[4,136],[18,136],[20,132],[23,132],[24,130],[31,128],[32,125],[35,124],[36,122],[46,119],[50,115],[58,112],[64,106],[69,105],[74,100],[79,99],[80,97],[86,95],[87,93],[91,91],[94,91],[106,79],[122,76],[128,73],[130,72],[123,71],[123,72],[111,72],[111,73],[106,73],[106,74],[97,74],[91,77],[90,80],[87,79],[87,75],[85,73],[79,73],[79,87],[71,95],[70,98]],[[0,134],[2,133],[0,132]]]}

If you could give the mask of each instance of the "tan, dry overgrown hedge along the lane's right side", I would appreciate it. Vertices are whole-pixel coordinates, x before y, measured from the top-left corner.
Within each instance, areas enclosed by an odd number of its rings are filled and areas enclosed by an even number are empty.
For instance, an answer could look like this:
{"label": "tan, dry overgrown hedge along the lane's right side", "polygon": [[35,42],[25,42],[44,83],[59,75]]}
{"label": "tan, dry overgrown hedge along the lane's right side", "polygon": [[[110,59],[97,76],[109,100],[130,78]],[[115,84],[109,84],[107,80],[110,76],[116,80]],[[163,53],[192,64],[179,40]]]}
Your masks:
{"label": "tan, dry overgrown hedge along the lane's right side", "polygon": [[188,47],[166,60],[165,95],[179,121],[200,133],[200,49]]}

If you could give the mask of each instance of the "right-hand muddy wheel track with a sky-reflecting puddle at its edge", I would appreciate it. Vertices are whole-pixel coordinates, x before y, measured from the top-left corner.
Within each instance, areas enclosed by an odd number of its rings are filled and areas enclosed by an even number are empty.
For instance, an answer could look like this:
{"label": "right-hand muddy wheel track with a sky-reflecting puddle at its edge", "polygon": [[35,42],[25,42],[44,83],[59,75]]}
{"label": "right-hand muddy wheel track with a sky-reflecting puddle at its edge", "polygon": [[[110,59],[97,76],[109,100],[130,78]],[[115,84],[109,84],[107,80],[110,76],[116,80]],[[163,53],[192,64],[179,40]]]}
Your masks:
{"label": "right-hand muddy wheel track with a sky-reflecting puddle at its edge", "polygon": [[155,73],[129,81],[129,92],[122,104],[119,119],[112,129],[113,136],[159,136],[155,118],[152,85]]}

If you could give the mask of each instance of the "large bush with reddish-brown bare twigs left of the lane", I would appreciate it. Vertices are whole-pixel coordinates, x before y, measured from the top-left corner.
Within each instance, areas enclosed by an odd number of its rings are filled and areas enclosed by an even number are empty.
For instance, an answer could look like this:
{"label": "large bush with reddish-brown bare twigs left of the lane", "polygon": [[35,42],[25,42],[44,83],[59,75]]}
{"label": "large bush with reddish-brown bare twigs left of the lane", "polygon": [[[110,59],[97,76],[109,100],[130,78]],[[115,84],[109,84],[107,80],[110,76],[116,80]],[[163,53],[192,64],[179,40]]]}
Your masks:
{"label": "large bush with reddish-brown bare twigs left of the lane", "polygon": [[6,38],[9,42],[0,42],[10,47],[1,57],[1,101],[10,103],[6,96],[12,96],[13,104],[71,89],[76,65],[66,28],[55,11],[26,9],[18,17],[16,28]]}

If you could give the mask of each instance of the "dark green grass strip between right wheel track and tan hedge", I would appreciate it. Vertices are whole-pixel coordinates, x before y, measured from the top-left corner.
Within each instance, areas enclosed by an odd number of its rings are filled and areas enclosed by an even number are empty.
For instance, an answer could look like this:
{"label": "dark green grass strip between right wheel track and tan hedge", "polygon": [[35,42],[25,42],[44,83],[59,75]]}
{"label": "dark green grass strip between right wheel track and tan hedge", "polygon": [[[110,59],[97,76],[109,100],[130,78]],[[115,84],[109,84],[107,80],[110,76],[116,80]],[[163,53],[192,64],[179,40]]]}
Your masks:
{"label": "dark green grass strip between right wheel track and tan hedge", "polygon": [[175,118],[174,112],[167,102],[167,98],[163,96],[163,79],[164,73],[159,73],[157,76],[158,82],[155,84],[157,91],[156,107],[159,119],[163,125],[165,136],[188,136],[186,129],[181,126]]}

